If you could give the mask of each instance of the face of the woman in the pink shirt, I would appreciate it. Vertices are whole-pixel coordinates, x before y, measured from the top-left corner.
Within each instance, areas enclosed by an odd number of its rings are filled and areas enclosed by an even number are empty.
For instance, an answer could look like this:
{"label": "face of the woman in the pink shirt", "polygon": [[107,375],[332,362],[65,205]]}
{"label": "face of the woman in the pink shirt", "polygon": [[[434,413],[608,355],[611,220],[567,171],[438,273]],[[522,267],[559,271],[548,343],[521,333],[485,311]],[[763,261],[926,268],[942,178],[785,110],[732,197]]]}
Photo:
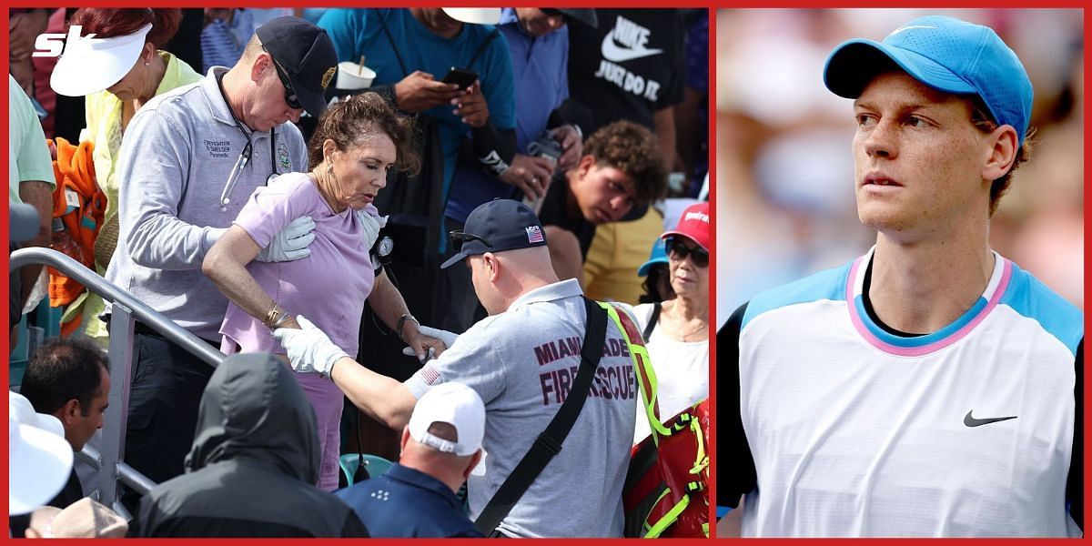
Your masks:
{"label": "face of the woman in the pink shirt", "polygon": [[397,150],[387,133],[368,134],[359,144],[332,154],[334,200],[360,210],[376,200],[387,186],[387,171],[397,159]]}

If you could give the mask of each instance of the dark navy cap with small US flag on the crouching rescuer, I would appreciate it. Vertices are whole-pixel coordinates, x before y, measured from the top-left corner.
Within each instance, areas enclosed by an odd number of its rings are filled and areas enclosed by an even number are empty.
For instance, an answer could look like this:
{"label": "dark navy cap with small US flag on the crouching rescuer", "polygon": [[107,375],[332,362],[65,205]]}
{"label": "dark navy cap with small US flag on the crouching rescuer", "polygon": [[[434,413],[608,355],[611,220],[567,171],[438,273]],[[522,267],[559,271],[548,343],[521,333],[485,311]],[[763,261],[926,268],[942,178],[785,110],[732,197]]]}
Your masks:
{"label": "dark navy cap with small US flag on the crouching rescuer", "polygon": [[467,256],[545,247],[546,230],[527,205],[511,199],[482,203],[466,216],[461,232],[451,232],[455,254],[440,265],[448,269]]}

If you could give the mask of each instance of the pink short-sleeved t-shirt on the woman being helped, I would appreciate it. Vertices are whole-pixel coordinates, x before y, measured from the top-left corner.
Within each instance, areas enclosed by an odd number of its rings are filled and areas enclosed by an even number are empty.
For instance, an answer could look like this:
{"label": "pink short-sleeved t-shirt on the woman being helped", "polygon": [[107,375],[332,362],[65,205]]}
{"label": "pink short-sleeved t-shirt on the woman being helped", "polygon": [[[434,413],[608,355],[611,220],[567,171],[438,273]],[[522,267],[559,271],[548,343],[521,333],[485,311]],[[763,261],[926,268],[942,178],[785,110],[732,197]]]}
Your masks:
{"label": "pink short-sleeved t-shirt on the woman being helped", "polygon": [[[378,215],[375,206],[365,209]],[[335,214],[305,174],[281,175],[272,186],[258,188],[235,218],[258,246],[265,248],[273,236],[300,216],[314,221],[311,256],[290,262],[251,261],[247,271],[274,301],[292,314],[302,314],[325,332],[351,356],[359,344],[360,313],[376,281],[369,248],[364,246],[364,226],[352,209]],[[222,351],[276,353],[285,349],[259,319],[228,304]]]}

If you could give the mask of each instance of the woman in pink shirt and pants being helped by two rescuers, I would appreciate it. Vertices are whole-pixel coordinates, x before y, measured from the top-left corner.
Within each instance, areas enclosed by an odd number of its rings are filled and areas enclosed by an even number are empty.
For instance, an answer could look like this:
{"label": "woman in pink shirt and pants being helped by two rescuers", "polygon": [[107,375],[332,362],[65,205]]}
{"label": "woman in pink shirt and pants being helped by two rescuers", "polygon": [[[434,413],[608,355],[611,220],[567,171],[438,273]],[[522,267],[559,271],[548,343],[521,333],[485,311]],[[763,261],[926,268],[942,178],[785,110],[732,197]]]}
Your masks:
{"label": "woman in pink shirt and pants being helped by two rescuers", "polygon": [[[372,205],[391,168],[419,168],[412,147],[412,121],[400,118],[375,93],[352,96],[329,107],[308,144],[309,173],[281,175],[259,188],[233,226],[213,245],[202,271],[230,300],[219,332],[221,349],[233,353],[285,351],[271,332],[299,328],[307,316],[343,351],[357,354],[360,316],[368,300],[376,313],[414,348],[443,349],[425,336],[405,300],[369,256],[380,218]],[[286,262],[254,261],[289,222],[314,221],[310,256]],[[287,359],[285,358],[287,365]],[[340,420],[344,395],[332,381],[296,376],[314,407],[322,467],[318,486],[337,487]]]}

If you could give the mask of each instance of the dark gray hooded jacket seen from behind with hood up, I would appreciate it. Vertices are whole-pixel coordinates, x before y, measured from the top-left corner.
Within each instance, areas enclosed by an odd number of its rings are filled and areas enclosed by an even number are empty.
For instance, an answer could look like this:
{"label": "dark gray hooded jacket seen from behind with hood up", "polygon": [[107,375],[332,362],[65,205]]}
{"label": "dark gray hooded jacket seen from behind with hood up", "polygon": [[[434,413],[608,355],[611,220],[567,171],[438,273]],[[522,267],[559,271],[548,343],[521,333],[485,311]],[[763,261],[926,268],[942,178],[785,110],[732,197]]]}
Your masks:
{"label": "dark gray hooded jacket seen from behind with hood up", "polygon": [[130,536],[368,536],[353,510],[314,487],[314,413],[270,355],[232,356],[201,396],[186,474],[141,500]]}

